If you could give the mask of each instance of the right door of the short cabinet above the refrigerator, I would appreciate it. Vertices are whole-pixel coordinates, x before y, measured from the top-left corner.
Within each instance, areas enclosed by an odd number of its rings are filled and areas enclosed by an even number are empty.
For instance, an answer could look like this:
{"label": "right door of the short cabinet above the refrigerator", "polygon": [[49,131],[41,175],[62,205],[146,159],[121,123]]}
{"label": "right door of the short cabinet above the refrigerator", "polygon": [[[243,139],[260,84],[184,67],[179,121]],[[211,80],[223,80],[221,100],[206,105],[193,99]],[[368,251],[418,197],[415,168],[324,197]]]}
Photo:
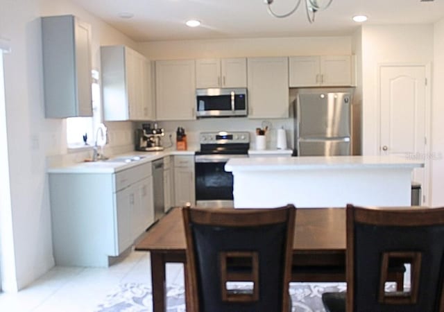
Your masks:
{"label": "right door of the short cabinet above the refrigerator", "polygon": [[322,85],[352,85],[352,62],[350,55],[321,56]]}

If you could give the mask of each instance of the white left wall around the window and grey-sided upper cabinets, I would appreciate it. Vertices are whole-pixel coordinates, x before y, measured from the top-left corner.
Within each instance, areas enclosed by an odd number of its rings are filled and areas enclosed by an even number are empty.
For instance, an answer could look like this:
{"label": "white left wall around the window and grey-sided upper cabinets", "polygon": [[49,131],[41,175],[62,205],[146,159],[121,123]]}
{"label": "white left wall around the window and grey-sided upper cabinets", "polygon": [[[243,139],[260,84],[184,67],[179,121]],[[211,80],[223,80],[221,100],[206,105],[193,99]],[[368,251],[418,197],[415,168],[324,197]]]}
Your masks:
{"label": "white left wall around the window and grey-sided upper cabinets", "polygon": [[[11,53],[4,55],[11,205],[0,209],[8,209],[12,215],[12,229],[7,234],[3,232],[7,229],[1,229],[2,238],[10,237],[11,241],[9,246],[2,246],[0,261],[8,264],[3,261],[7,255],[15,265],[3,267],[5,291],[23,288],[54,265],[46,156],[67,154],[67,148],[65,121],[44,118],[39,17],[65,14],[92,25],[96,68],[100,66],[101,44],[137,48],[135,42],[69,0],[1,0],[0,34],[10,40],[11,47]],[[118,132],[115,137],[122,138],[121,144],[131,143],[126,141],[131,123],[116,123],[109,128]],[[124,133],[118,136],[120,132]]]}

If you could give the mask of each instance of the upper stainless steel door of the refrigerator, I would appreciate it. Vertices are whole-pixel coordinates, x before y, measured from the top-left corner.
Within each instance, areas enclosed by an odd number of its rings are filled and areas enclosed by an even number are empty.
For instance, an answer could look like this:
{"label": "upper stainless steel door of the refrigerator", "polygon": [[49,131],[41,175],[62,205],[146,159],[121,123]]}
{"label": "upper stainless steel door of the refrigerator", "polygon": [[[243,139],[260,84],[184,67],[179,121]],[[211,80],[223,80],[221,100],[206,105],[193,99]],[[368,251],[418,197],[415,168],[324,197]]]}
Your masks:
{"label": "upper stainless steel door of the refrigerator", "polygon": [[345,92],[298,94],[298,137],[350,137],[350,102]]}

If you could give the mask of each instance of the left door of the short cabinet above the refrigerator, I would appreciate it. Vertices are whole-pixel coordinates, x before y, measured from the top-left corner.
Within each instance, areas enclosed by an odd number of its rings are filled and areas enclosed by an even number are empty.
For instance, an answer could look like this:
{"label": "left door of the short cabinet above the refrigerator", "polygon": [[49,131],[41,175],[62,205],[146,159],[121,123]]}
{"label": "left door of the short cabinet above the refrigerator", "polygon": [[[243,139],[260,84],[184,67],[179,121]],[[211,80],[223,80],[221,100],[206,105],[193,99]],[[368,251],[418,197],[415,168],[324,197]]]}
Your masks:
{"label": "left door of the short cabinet above the refrigerator", "polygon": [[289,86],[316,87],[321,83],[321,63],[318,56],[289,58]]}

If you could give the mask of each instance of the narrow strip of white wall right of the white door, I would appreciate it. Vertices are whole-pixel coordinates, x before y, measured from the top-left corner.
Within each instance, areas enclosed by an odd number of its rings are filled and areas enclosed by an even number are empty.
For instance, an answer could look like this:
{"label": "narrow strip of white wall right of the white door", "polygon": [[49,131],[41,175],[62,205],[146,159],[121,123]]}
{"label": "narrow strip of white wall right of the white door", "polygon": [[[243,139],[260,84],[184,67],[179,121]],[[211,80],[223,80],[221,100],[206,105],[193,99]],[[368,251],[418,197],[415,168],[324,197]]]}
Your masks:
{"label": "narrow strip of white wall right of the white door", "polygon": [[432,205],[444,206],[444,19],[434,25]]}

